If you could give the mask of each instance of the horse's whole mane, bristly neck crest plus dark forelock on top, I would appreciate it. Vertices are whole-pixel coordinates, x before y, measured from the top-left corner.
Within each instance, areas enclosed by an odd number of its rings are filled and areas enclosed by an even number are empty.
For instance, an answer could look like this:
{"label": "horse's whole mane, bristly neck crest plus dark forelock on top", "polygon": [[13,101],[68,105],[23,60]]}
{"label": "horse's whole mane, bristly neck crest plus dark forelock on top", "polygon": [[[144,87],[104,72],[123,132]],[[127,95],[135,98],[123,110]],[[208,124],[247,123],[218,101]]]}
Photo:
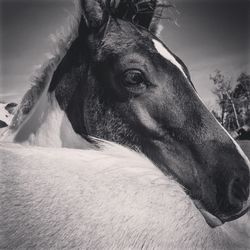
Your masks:
{"label": "horse's whole mane, bristly neck crest plus dark forelock on top", "polygon": [[[9,126],[12,130],[17,130],[31,113],[33,107],[38,103],[42,93],[48,88],[52,76],[58,65],[70,49],[72,43],[78,37],[78,30],[82,17],[81,0],[72,0],[75,10],[68,17],[66,24],[61,27],[50,38],[53,42],[53,51],[50,57],[37,69],[30,78],[31,88],[22,98],[17,111]],[[135,25],[147,26],[152,33],[156,33],[161,19],[171,19],[164,17],[164,10],[173,7],[168,0],[111,0],[110,12],[117,18],[125,19]],[[140,22],[136,20],[140,17]]]}

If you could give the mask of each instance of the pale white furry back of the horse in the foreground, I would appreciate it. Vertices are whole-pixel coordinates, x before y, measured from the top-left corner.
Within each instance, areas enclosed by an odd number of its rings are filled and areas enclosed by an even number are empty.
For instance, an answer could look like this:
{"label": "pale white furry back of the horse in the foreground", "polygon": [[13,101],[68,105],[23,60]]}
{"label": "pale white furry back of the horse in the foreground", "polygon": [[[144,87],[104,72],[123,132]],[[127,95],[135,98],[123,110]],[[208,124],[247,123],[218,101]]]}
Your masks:
{"label": "pale white furry back of the horse in the foreground", "polygon": [[102,144],[101,152],[0,144],[0,249],[249,247],[247,217],[244,237],[237,222],[211,229],[148,159]]}

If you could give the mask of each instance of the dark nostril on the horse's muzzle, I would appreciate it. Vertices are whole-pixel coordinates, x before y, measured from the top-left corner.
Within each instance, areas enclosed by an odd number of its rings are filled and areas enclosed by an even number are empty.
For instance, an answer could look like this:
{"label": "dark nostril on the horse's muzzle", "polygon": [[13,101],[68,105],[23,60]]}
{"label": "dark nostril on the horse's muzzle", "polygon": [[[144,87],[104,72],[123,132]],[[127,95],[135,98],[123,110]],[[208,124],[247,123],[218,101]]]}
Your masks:
{"label": "dark nostril on the horse's muzzle", "polygon": [[236,209],[242,209],[243,202],[248,199],[249,187],[245,186],[240,179],[235,179],[229,184],[228,191],[231,205]]}

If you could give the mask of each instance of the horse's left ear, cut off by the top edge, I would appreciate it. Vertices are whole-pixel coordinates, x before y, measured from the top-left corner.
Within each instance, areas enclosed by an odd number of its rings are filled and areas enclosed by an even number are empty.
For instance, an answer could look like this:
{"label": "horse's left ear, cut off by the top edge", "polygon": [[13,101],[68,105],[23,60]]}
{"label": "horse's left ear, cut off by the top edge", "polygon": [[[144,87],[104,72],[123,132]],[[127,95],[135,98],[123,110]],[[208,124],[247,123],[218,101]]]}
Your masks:
{"label": "horse's left ear, cut off by the top edge", "polygon": [[86,27],[98,30],[108,20],[107,0],[80,0],[81,14]]}

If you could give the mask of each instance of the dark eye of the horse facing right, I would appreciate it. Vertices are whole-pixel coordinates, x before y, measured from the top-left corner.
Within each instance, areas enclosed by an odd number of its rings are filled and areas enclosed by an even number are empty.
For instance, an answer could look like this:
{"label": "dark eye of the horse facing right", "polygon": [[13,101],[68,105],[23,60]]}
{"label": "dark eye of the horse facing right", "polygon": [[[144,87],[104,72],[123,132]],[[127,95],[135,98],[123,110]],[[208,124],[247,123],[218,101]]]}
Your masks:
{"label": "dark eye of the horse facing right", "polygon": [[128,70],[123,75],[123,82],[128,87],[138,87],[145,83],[145,78],[140,70]]}

